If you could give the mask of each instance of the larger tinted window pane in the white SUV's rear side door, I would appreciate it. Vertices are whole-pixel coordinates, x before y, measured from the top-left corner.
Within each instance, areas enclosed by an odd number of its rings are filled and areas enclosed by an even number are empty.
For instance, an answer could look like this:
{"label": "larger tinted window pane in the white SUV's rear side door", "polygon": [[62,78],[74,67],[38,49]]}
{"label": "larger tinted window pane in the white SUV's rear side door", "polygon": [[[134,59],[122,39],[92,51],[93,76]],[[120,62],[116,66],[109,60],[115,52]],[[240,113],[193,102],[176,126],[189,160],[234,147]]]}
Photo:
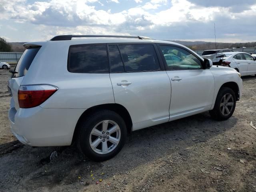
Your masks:
{"label": "larger tinted window pane in the white SUV's rear side door", "polygon": [[119,48],[127,72],[160,70],[153,45],[119,45]]}

